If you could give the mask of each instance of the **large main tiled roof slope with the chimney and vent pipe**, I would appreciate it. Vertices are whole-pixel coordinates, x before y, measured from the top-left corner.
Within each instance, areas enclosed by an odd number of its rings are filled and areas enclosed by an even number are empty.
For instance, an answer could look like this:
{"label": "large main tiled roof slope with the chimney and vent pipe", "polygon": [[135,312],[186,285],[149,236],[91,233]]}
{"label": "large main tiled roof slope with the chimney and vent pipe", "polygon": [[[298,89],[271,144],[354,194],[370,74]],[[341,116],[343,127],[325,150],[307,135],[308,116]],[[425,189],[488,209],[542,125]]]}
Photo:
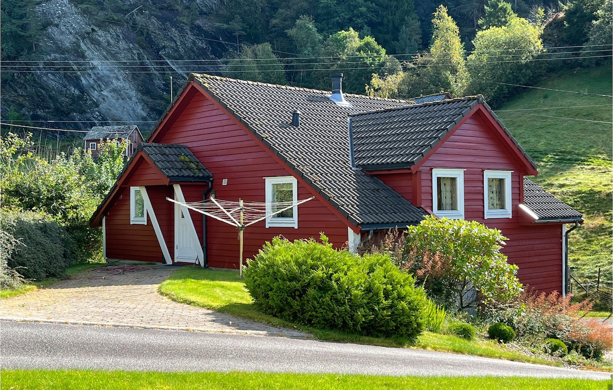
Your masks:
{"label": "large main tiled roof slope with the chimney and vent pipe", "polygon": [[[330,101],[330,92],[191,75],[341,214],[367,228],[411,224],[427,213],[376,177],[351,167],[350,113],[402,107],[411,102],[345,94],[349,106]],[[300,110],[300,126],[292,112]]]}

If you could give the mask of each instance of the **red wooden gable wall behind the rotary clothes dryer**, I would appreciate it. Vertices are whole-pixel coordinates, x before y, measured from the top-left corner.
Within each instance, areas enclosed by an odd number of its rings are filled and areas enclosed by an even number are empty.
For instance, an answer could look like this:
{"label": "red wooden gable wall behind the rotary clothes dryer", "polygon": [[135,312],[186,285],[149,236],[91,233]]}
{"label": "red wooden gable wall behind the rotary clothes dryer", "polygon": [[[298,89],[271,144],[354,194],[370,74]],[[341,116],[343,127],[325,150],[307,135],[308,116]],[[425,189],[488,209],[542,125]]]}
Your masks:
{"label": "red wooden gable wall behind the rotary clothes dryer", "polygon": [[[213,173],[213,189],[218,199],[229,201],[265,201],[264,177],[289,176],[286,170],[253,137],[235,123],[207,97],[196,94],[159,143],[186,145]],[[222,185],[227,178],[227,185]],[[182,185],[186,201],[200,201],[207,185]],[[311,192],[298,183],[298,199]],[[299,206],[299,229],[265,228],[265,222],[245,229],[244,258],[253,258],[265,241],[276,235],[289,240],[319,237],[325,232],[336,247],[347,241],[347,226],[326,205],[313,199]],[[202,215],[191,212],[199,239],[202,240]],[[207,218],[208,265],[238,268],[238,230],[229,224]],[[172,248],[172,247],[171,247]]]}

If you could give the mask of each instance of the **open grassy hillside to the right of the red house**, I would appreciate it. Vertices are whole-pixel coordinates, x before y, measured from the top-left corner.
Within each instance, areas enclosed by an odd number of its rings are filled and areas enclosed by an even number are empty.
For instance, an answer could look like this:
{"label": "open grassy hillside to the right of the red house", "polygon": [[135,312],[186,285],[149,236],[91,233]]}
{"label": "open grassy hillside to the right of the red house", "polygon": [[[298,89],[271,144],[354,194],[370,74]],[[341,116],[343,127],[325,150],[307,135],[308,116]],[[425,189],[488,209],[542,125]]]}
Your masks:
{"label": "open grassy hillside to the right of the red house", "polygon": [[539,85],[547,89],[531,88],[496,111],[536,162],[535,181],[584,213],[585,224],[570,235],[572,275],[595,282],[600,267],[608,285],[613,272],[611,79],[610,65],[551,74]]}

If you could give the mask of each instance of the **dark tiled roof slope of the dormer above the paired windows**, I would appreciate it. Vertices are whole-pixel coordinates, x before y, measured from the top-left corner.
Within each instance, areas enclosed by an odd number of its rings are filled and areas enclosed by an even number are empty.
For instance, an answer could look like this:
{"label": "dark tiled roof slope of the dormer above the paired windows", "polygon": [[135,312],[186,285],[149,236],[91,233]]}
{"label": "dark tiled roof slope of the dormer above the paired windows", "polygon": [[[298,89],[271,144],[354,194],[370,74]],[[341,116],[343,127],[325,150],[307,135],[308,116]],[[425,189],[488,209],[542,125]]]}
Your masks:
{"label": "dark tiled roof slope of the dormer above the paired windows", "polygon": [[366,170],[411,167],[482,102],[479,95],[352,115],[356,165]]}

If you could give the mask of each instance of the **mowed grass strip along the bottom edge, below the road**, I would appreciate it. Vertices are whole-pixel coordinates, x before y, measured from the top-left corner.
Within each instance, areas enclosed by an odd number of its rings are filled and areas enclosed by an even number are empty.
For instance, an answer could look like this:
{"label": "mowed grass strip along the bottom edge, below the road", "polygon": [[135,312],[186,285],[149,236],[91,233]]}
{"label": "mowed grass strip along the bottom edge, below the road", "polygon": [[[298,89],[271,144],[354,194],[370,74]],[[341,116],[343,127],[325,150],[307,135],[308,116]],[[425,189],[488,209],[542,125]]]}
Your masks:
{"label": "mowed grass strip along the bottom edge, below the road", "polygon": [[2,389],[462,389],[604,390],[610,381],[517,377],[379,377],[261,372],[122,372],[2,370]]}

